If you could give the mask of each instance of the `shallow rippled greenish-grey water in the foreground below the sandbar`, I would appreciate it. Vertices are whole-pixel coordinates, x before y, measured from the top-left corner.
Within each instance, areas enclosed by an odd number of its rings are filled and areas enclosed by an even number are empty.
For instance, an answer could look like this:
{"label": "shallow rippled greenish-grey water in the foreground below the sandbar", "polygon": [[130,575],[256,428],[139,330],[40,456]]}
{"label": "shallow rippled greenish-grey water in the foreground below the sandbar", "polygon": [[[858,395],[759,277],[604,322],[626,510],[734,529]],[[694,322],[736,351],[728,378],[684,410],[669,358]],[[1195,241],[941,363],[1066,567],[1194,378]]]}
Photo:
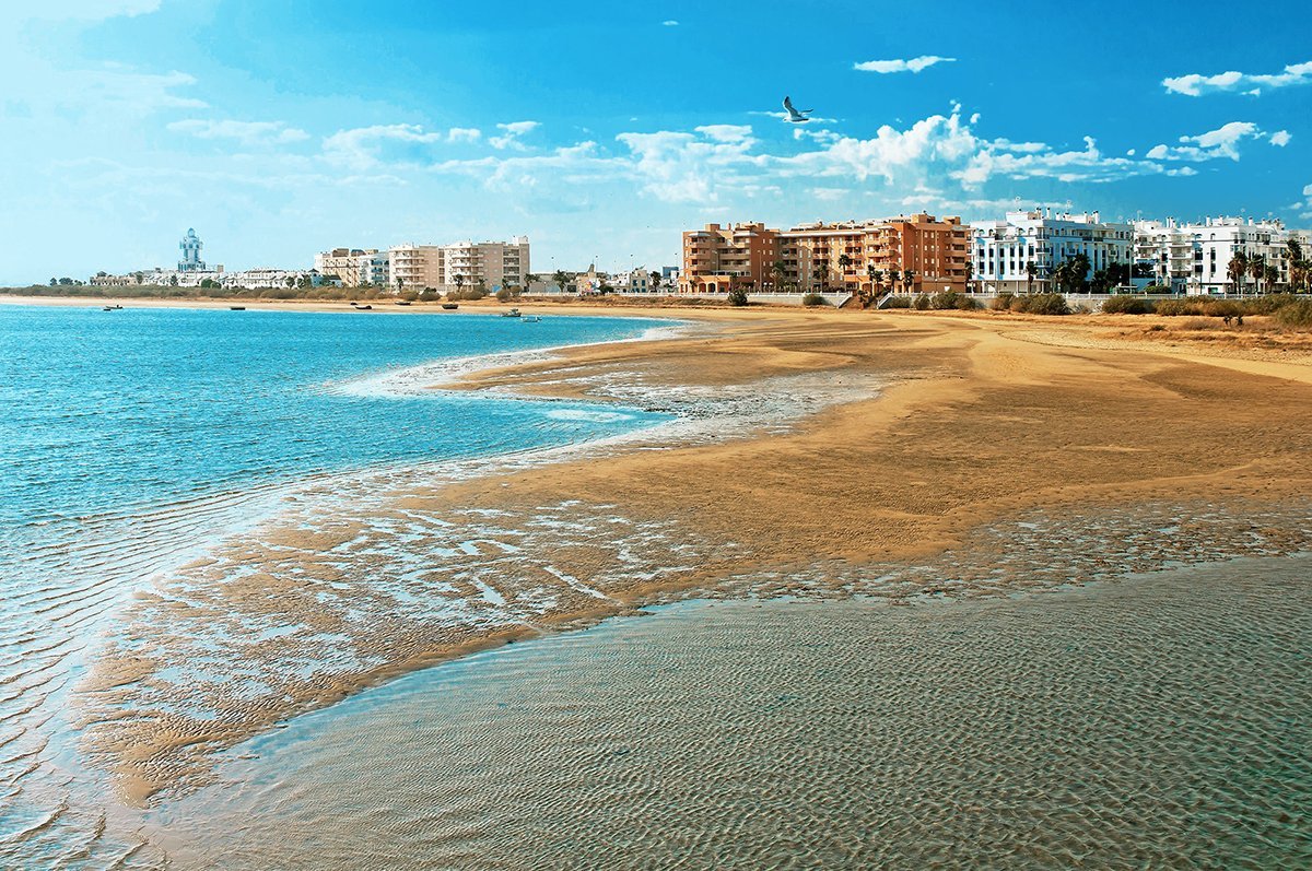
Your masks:
{"label": "shallow rippled greenish-grey water in the foreground below the sandbar", "polygon": [[185,868],[1308,867],[1309,577],[666,606],[299,718],[143,833]]}

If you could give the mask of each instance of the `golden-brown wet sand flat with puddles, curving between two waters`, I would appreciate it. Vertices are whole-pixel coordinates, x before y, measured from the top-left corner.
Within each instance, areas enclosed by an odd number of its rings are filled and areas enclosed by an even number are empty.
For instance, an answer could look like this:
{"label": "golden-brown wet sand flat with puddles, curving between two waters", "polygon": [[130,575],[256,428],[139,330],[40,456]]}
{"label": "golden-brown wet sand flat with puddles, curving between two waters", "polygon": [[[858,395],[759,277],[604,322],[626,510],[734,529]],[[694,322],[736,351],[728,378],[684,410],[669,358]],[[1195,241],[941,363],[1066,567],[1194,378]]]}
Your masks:
{"label": "golden-brown wet sand flat with puddles, curving between two waters", "polygon": [[[987,314],[712,317],[710,332],[461,382],[668,408],[691,429],[547,458],[559,462],[335,484],[168,578],[84,686],[89,749],[146,800],[203,782],[215,750],[281,720],[489,644],[761,578],[770,593],[904,601],[941,584],[887,584],[891,564],[941,559],[1000,518],[1063,530],[1090,506],[1155,504],[1158,543],[1181,561],[1307,548],[1305,363]],[[1220,519],[1193,522],[1206,513]],[[958,592],[1006,589],[975,578]]]}

